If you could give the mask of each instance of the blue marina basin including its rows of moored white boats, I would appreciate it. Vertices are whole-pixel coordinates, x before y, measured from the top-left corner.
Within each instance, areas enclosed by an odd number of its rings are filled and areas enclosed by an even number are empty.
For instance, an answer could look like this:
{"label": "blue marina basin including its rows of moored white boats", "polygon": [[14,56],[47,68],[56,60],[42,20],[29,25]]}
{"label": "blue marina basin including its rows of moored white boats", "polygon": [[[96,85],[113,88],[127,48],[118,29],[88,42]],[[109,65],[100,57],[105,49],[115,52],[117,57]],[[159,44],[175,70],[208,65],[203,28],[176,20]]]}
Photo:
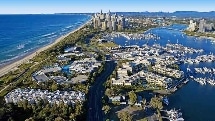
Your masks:
{"label": "blue marina basin including its rows of moored white boats", "polygon": [[[215,112],[215,109],[212,108],[215,107],[213,103],[215,101],[215,94],[213,93],[215,91],[213,86],[215,58],[213,52],[215,52],[215,48],[210,40],[200,41],[196,37],[184,35],[181,31],[185,28],[186,26],[184,25],[172,25],[166,28],[149,30],[149,33],[154,33],[160,37],[159,41],[149,39],[147,41],[140,40],[136,43],[133,40],[117,37],[114,38],[114,42],[120,46],[128,45],[128,43],[130,46],[138,44],[145,48],[148,47],[152,52],[153,49],[159,49],[159,52],[173,55],[174,58],[169,58],[171,61],[167,60],[165,62],[178,63],[180,70],[184,71],[186,76],[178,86],[169,89],[169,91],[174,93],[168,95],[169,104],[165,106],[165,109],[180,108],[186,121],[213,120],[213,112]],[[194,68],[197,70],[201,68],[205,74],[200,70],[196,71]],[[199,82],[196,82],[196,79]],[[204,95],[203,98],[202,95]],[[199,107],[199,105],[204,105],[204,107]],[[204,115],[201,112],[204,112]]]}

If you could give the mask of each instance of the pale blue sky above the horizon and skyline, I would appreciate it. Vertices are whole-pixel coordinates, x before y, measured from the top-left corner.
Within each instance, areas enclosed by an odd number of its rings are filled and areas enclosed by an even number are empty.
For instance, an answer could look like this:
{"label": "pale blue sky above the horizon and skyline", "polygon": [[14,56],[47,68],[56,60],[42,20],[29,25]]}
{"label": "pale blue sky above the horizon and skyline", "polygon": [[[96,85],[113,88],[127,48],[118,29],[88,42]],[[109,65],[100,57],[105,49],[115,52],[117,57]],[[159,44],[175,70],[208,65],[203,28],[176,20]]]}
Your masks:
{"label": "pale blue sky above the horizon and skyline", "polygon": [[215,11],[215,0],[1,0],[0,14]]}

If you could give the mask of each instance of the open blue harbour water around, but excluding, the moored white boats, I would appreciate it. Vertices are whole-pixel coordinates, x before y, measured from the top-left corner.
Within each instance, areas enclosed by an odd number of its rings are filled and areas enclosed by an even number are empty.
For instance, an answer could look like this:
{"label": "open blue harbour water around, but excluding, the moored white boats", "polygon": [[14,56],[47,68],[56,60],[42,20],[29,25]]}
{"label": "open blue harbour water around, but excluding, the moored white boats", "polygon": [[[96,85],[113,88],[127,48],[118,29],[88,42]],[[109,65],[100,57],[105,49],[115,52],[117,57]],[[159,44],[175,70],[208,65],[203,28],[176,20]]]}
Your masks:
{"label": "open blue harbour water around, but excluding, the moored white boats", "polygon": [[[154,43],[164,46],[167,43],[178,43],[195,49],[203,49],[204,52],[202,54],[215,53],[215,45],[209,39],[186,36],[182,32],[186,27],[185,25],[175,24],[147,31],[158,35],[160,40],[127,40],[126,38],[118,37],[114,39],[114,42],[121,46],[136,44],[142,46],[143,44],[152,45]],[[192,57],[192,55],[189,57]],[[180,67],[186,72],[188,66],[191,69],[194,67],[214,68],[215,63],[183,64]],[[200,77],[200,75],[195,76]],[[212,76],[214,77],[214,75]],[[190,81],[187,85],[170,95],[169,101],[170,104],[165,108],[180,108],[185,121],[215,121],[215,86],[209,84],[200,85],[195,81]]]}

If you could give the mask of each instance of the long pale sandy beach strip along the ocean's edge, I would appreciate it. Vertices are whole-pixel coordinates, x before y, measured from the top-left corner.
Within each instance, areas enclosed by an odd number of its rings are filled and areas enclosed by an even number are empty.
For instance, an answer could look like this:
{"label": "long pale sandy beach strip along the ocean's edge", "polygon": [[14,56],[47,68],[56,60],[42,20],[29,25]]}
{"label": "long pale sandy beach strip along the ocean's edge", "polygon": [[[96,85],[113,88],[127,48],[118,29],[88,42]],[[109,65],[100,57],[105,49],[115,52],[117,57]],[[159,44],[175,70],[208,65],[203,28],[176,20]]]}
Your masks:
{"label": "long pale sandy beach strip along the ocean's edge", "polygon": [[57,43],[59,43],[60,41],[62,41],[64,38],[66,38],[67,36],[69,36],[70,34],[75,33],[76,31],[80,30],[81,28],[83,28],[84,26],[86,26],[87,24],[90,23],[90,21],[92,20],[89,19],[88,21],[86,21],[85,23],[83,23],[83,25],[81,25],[80,27],[68,32],[65,35],[60,36],[59,38],[55,39],[53,41],[53,43],[50,43],[48,45],[45,45],[39,49],[36,49],[35,51],[26,54],[26,56],[21,57],[20,59],[14,60],[14,62],[12,61],[11,63],[8,62],[8,64],[2,65],[0,66],[0,77],[2,77],[3,75],[9,73],[10,71],[12,71],[13,69],[16,69],[19,65],[28,62],[30,59],[32,59],[33,57],[35,57],[37,54],[39,54],[40,52],[43,52],[49,48],[51,48],[52,46],[56,45]]}

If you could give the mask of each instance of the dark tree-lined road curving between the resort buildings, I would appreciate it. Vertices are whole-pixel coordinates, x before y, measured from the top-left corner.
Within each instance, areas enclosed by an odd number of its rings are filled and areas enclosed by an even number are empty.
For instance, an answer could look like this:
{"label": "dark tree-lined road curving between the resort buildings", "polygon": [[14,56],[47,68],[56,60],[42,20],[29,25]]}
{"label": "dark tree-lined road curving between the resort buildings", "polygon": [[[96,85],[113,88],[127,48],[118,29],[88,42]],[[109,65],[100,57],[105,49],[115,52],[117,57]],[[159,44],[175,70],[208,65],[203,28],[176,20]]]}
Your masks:
{"label": "dark tree-lined road curving between the resort buildings", "polygon": [[114,61],[106,61],[105,70],[96,78],[94,85],[90,88],[87,121],[103,121],[102,96],[105,91],[103,83],[112,74],[115,67]]}

